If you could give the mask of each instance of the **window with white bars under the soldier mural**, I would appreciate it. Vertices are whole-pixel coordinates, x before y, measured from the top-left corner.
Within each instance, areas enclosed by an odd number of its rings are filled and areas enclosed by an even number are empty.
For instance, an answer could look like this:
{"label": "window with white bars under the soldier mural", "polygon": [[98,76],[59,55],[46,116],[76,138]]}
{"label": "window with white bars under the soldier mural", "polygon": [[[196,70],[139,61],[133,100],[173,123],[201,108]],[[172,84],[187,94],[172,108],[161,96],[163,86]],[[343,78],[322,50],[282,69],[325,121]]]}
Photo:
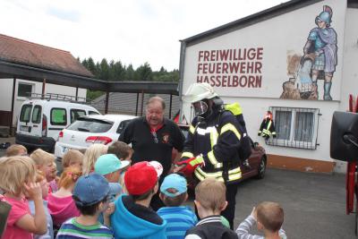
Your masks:
{"label": "window with white bars under the soldier mural", "polygon": [[270,107],[277,137],[268,145],[316,149],[320,110],[318,108]]}

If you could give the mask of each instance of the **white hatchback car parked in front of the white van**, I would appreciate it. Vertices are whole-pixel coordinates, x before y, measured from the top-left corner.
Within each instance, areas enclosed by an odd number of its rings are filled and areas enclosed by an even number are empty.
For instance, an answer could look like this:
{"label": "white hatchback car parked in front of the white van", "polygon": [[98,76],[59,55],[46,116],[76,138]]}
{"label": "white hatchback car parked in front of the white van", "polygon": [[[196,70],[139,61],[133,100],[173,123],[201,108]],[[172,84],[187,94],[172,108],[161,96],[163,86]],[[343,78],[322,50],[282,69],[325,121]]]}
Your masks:
{"label": "white hatchback car parked in front of the white van", "polygon": [[87,149],[93,143],[111,145],[118,141],[124,127],[137,116],[88,115],[82,116],[59,133],[55,143],[55,157],[63,158],[69,149]]}

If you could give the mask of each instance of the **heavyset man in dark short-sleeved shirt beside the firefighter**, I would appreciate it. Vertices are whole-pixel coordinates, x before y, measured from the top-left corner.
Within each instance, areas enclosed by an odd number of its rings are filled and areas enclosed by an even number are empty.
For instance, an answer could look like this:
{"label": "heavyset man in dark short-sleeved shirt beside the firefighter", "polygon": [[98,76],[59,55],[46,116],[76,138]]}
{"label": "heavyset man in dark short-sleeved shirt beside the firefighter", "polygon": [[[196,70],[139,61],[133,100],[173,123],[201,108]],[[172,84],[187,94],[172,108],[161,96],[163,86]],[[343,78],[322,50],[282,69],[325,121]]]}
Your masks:
{"label": "heavyset man in dark short-sleeved shirt beside the firefighter", "polygon": [[[152,160],[162,164],[163,174],[159,184],[168,174],[172,165],[173,148],[182,152],[183,142],[185,141],[183,132],[178,125],[164,117],[165,108],[166,104],[163,98],[149,98],[146,115],[133,119],[118,139],[125,143],[132,143],[132,149],[134,149],[132,164]],[[150,206],[157,210],[164,204],[156,194]]]}

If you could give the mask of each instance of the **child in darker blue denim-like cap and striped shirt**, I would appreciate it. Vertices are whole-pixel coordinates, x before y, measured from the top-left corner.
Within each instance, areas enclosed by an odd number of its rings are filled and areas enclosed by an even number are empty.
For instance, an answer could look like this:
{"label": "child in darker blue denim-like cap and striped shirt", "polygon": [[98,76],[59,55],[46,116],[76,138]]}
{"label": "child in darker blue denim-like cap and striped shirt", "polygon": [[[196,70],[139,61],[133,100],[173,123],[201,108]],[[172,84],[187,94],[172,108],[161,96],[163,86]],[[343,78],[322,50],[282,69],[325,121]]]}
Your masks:
{"label": "child in darker blue denim-like cap and striped shirt", "polygon": [[[56,238],[114,238],[109,216],[114,207],[108,208],[109,185],[105,177],[98,174],[82,175],[76,182],[72,197],[81,215],[64,222]],[[105,213],[105,224],[98,222],[101,212]]]}

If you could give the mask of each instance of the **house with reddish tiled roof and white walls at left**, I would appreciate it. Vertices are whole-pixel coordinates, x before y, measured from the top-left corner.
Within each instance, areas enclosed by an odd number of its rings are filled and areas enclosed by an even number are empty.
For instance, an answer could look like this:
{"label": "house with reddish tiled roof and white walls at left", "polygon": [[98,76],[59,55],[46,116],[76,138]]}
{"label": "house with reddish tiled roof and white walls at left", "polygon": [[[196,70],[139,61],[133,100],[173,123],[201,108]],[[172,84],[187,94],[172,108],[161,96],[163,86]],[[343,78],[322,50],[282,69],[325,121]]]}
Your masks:
{"label": "house with reddish tiled roof and white walls at left", "polygon": [[[31,95],[37,94],[62,94],[79,98],[86,98],[86,89],[69,87],[64,85],[29,81],[34,78],[33,72],[38,69],[47,73],[65,75],[66,77],[83,77],[90,79],[93,77],[81,63],[74,58],[70,52],[46,47],[19,38],[12,38],[0,34],[0,62],[2,65],[19,65],[22,67],[20,72],[2,73],[0,67],[0,126],[9,126],[11,121],[11,110],[13,102],[13,126],[16,125],[16,117],[20,110],[21,103]],[[33,71],[33,72],[31,72]],[[29,73],[27,75],[26,73]],[[24,79],[13,78],[13,75],[25,75]],[[36,76],[38,77],[38,75]],[[57,77],[61,82],[61,77]],[[46,81],[46,79],[44,79]],[[75,81],[75,80],[73,80]],[[13,100],[14,84],[14,100]],[[43,91],[44,90],[44,91]]]}

